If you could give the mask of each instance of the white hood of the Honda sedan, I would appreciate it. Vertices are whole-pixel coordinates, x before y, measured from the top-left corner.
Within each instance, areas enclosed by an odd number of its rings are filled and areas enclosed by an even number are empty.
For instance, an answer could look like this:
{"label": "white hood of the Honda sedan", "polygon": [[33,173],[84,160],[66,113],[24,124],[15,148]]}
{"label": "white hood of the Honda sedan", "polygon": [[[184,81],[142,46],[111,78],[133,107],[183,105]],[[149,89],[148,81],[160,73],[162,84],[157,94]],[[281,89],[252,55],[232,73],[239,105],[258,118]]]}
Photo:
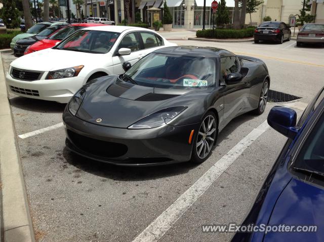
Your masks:
{"label": "white hood of the Honda sedan", "polygon": [[[107,55],[91,54],[76,51],[46,49],[24,55],[14,60],[11,66],[24,70],[50,71],[84,65],[93,62],[101,63],[100,58],[109,58]],[[92,64],[92,63],[91,63]]]}

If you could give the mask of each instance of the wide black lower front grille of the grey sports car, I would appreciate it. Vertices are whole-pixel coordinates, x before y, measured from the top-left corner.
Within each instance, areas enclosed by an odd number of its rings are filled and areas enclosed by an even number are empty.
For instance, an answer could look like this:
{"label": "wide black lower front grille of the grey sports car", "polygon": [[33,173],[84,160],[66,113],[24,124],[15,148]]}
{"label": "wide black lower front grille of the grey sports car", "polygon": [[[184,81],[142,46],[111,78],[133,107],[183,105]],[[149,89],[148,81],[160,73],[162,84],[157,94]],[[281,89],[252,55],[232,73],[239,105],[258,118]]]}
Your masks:
{"label": "wide black lower front grille of the grey sports car", "polygon": [[126,154],[128,148],[124,144],[92,139],[68,130],[67,135],[77,148],[101,157],[114,158]]}

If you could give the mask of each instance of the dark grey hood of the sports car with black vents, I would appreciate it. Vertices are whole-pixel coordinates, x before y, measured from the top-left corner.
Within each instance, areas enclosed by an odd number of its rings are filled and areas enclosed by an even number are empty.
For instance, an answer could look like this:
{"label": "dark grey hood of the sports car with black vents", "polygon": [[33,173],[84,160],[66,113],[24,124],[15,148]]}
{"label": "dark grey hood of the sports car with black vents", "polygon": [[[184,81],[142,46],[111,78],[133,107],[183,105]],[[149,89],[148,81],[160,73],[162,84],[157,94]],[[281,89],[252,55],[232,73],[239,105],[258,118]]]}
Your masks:
{"label": "dark grey hood of the sports car with black vents", "polygon": [[[102,126],[127,128],[156,111],[174,106],[190,107],[198,99],[194,89],[157,89],[126,83],[118,76],[102,78],[98,81],[101,84],[85,86],[87,93],[76,114],[80,119],[96,125],[96,119],[101,118]],[[192,111],[188,109],[186,113]]]}

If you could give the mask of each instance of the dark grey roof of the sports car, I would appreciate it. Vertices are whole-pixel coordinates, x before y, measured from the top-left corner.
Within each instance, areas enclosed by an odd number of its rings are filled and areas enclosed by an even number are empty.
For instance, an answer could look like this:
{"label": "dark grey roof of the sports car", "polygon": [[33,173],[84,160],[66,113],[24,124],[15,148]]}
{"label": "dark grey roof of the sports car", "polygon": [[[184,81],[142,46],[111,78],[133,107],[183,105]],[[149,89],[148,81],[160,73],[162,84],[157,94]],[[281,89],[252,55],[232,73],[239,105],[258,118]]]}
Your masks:
{"label": "dark grey roof of the sports car", "polygon": [[198,46],[172,46],[161,48],[153,51],[154,53],[181,55],[181,56],[201,56],[201,57],[223,57],[235,56],[230,51],[214,48],[214,47],[198,47]]}

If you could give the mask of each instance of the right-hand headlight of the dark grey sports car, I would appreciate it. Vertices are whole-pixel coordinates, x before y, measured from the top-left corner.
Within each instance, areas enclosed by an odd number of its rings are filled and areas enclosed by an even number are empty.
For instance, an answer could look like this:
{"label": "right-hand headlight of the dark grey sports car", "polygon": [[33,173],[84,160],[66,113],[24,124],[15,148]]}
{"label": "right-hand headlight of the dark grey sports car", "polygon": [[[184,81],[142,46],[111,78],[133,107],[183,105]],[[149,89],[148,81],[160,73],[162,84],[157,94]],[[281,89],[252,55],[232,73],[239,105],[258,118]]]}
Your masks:
{"label": "right-hand headlight of the dark grey sports car", "polygon": [[187,107],[169,107],[142,118],[128,129],[150,129],[156,128],[164,124],[168,124],[171,120],[179,115]]}

